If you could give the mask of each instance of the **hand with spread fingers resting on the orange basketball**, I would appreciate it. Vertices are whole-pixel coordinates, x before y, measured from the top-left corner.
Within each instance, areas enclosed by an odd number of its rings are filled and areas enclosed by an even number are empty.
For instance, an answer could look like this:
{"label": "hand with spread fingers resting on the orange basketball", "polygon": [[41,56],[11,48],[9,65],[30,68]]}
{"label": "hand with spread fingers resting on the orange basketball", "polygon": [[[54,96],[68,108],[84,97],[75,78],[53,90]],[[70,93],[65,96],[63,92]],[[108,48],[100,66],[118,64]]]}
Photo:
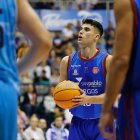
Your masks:
{"label": "hand with spread fingers resting on the orange basketball", "polygon": [[75,96],[74,99],[72,99],[72,101],[74,103],[76,103],[77,105],[81,105],[81,104],[87,104],[90,101],[90,96],[87,96],[86,93],[80,89],[81,95],[80,96]]}

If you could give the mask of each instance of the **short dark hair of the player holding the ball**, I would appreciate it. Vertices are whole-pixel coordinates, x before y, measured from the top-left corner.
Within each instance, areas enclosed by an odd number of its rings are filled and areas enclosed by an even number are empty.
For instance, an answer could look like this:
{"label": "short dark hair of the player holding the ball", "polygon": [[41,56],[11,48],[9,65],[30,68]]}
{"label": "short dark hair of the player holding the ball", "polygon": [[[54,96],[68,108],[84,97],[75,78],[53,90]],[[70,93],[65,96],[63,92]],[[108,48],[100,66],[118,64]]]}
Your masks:
{"label": "short dark hair of the player holding the ball", "polygon": [[93,20],[93,19],[86,18],[86,19],[82,20],[82,24],[90,24],[90,25],[94,26],[100,32],[100,37],[103,35],[104,29],[100,22]]}

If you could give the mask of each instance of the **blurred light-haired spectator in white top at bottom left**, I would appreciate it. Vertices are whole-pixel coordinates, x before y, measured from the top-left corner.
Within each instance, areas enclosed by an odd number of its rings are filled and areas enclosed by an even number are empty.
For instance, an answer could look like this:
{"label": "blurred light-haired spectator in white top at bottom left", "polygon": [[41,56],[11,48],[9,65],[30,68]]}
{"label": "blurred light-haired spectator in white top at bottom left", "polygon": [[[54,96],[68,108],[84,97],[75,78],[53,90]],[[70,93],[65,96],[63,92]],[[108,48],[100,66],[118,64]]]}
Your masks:
{"label": "blurred light-haired spectator in white top at bottom left", "polygon": [[25,140],[45,140],[43,131],[38,127],[38,118],[32,116],[30,126],[23,132]]}

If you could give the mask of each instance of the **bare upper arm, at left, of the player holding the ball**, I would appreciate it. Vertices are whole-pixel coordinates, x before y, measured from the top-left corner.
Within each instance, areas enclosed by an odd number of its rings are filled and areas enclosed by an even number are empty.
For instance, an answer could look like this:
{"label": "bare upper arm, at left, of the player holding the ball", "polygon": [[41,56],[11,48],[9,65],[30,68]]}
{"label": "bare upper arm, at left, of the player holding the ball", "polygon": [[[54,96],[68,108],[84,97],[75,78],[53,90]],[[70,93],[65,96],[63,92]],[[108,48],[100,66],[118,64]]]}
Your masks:
{"label": "bare upper arm, at left, of the player holding the ball", "polygon": [[65,56],[60,63],[60,79],[59,79],[59,82],[62,82],[64,80],[68,79],[68,72],[67,72],[68,60],[69,60],[69,56]]}

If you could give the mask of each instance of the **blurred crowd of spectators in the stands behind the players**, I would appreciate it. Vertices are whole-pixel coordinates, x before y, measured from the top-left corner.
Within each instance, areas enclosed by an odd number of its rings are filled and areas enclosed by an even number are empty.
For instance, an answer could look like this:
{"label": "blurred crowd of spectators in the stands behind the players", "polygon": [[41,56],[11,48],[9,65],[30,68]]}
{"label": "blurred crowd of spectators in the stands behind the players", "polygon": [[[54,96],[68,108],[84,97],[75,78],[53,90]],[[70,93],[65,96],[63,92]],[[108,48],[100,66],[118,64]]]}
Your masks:
{"label": "blurred crowd of spectators in the stands behind the players", "polygon": [[[79,9],[81,9],[84,1],[77,0],[77,2],[79,2]],[[43,0],[42,3],[46,4]],[[34,6],[36,6],[36,3]],[[37,4],[37,6],[39,5]],[[95,7],[95,4],[93,4],[93,7]],[[54,3],[51,9],[53,8]],[[103,37],[97,44],[97,48],[111,54],[115,29],[111,22],[108,25]],[[77,21],[76,26],[68,23],[62,31],[52,32],[53,49],[49,58],[21,76],[18,140],[67,140],[72,115],[68,110],[63,110],[55,104],[52,93],[59,82],[61,59],[66,55],[71,55],[79,48],[77,39],[80,26],[81,22]],[[15,38],[17,61],[20,61],[32,43],[18,30],[15,33]]]}

